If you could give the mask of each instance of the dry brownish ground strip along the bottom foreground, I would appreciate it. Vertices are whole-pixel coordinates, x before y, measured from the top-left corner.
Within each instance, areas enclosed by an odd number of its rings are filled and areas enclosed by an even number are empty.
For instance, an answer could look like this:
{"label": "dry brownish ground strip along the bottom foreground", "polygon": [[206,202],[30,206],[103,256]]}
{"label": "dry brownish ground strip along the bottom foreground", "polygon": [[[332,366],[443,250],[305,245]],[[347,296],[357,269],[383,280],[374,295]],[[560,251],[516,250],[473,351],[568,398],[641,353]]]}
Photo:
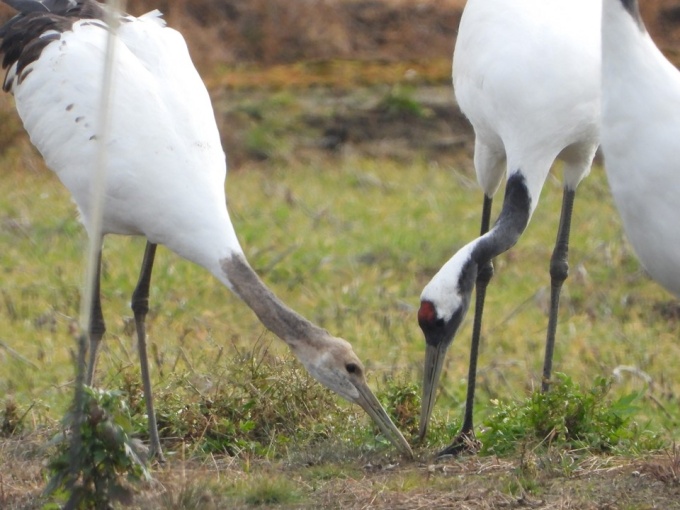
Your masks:
{"label": "dry brownish ground strip along the bottom foreground", "polygon": [[[0,460],[6,466],[0,474],[0,508],[40,508],[42,444],[30,437],[0,442]],[[155,467],[153,482],[132,508],[680,508],[678,451],[637,459],[554,452],[540,458],[527,453],[514,459],[467,457],[436,463],[424,458],[383,458],[377,463],[375,456],[355,456],[330,466],[304,458],[274,463],[226,456],[200,462],[175,458]],[[277,478],[288,481],[296,494],[293,501],[263,496],[244,502],[244,487]]]}

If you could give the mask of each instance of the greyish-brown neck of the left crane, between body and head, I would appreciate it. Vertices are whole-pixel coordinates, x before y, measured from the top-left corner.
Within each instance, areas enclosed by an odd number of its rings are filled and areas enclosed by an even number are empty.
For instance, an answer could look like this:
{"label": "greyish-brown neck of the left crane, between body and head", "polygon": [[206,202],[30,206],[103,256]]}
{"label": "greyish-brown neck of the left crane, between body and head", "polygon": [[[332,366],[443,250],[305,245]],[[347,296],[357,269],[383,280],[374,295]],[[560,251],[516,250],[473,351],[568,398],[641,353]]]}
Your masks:
{"label": "greyish-brown neck of the left crane, between body and head", "polygon": [[267,329],[291,347],[300,342],[312,342],[325,332],[297,312],[288,308],[260,280],[241,254],[220,261],[232,290],[260,319]]}

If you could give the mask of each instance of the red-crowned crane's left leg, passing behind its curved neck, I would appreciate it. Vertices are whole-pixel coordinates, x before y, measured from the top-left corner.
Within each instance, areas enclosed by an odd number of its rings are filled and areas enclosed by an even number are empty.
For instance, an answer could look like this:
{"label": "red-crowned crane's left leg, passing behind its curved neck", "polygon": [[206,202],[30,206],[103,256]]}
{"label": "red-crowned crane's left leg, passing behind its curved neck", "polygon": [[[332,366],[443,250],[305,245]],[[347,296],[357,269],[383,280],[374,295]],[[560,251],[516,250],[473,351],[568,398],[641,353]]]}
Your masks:
{"label": "red-crowned crane's left leg, passing behind its curved neck", "polygon": [[[482,206],[482,226],[480,235],[489,231],[491,219],[492,197],[484,195]],[[470,364],[468,365],[468,385],[465,398],[465,414],[463,416],[463,426],[460,432],[453,439],[453,442],[438,453],[438,457],[444,455],[459,455],[463,452],[474,453],[479,450],[479,441],[475,439],[473,411],[475,405],[475,385],[477,382],[477,358],[479,357],[479,341],[482,334],[482,315],[484,314],[484,299],[486,288],[493,277],[493,263],[488,260],[477,270],[477,280],[475,282],[475,318],[472,323],[472,341],[470,344]]]}

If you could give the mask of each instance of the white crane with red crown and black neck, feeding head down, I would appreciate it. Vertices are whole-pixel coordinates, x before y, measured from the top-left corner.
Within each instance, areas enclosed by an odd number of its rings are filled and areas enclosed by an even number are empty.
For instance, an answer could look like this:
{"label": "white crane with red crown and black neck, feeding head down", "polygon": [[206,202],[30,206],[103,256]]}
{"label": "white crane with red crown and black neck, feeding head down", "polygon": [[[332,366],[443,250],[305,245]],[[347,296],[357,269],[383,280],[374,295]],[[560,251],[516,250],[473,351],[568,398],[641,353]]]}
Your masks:
{"label": "white crane with red crown and black neck, feeding head down", "polygon": [[[453,57],[453,85],[475,132],[474,164],[484,192],[481,235],[461,248],[424,288],[418,322],[426,353],[421,438],[427,431],[448,347],[477,286],[465,417],[440,455],[474,440],[477,353],[491,260],[524,232],[556,159],[564,162],[557,241],[550,260],[551,300],[543,386],[547,388],[559,295],[567,277],[576,187],[598,146],[600,0],[469,0]],[[492,198],[506,177],[503,207],[489,230]],[[473,446],[474,447],[474,446]]]}

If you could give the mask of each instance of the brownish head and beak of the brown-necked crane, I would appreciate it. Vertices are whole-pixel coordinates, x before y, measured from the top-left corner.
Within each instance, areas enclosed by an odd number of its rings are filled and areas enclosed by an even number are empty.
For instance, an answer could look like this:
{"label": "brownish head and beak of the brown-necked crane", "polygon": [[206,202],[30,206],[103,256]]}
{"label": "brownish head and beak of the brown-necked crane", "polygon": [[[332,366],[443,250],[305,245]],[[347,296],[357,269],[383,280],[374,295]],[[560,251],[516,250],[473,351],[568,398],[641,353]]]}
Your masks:
{"label": "brownish head and beak of the brown-necked crane", "polygon": [[294,343],[291,348],[317,381],[361,406],[399,451],[413,457],[408,442],[366,383],[364,365],[349,342],[324,331],[316,342]]}

